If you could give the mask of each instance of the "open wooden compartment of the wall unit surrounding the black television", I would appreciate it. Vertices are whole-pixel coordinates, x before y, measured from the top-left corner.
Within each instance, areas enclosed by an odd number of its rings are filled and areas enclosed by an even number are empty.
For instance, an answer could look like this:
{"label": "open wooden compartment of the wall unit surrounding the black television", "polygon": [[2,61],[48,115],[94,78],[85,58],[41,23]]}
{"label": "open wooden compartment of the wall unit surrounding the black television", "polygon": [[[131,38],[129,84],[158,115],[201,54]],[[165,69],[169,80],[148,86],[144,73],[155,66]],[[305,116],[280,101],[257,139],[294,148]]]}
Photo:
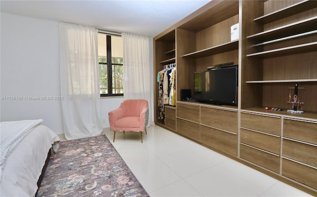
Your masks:
{"label": "open wooden compartment of the wall unit surrounding the black television", "polygon": [[181,89],[194,93],[194,72],[227,62],[238,64],[239,40],[231,41],[231,26],[239,23],[239,1],[211,1],[183,21],[176,28],[178,95]]}

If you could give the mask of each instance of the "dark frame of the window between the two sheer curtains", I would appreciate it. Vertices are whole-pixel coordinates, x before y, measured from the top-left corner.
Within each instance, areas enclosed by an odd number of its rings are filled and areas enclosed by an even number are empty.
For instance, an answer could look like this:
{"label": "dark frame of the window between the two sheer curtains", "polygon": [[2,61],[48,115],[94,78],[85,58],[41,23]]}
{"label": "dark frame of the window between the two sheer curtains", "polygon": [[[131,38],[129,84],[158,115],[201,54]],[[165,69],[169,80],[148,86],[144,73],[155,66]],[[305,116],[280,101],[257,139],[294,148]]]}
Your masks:
{"label": "dark frame of the window between the two sheer curtains", "polygon": [[[99,32],[102,33],[102,32]],[[104,34],[104,33],[102,33]],[[100,94],[100,97],[122,97],[123,94],[112,94],[112,66],[121,65],[118,63],[112,63],[112,55],[111,55],[111,35],[106,34],[106,50],[107,50],[107,62],[99,62],[99,64],[107,65],[107,85],[108,85],[108,94]],[[110,65],[110,66],[109,66]],[[124,88],[124,87],[123,87]]]}

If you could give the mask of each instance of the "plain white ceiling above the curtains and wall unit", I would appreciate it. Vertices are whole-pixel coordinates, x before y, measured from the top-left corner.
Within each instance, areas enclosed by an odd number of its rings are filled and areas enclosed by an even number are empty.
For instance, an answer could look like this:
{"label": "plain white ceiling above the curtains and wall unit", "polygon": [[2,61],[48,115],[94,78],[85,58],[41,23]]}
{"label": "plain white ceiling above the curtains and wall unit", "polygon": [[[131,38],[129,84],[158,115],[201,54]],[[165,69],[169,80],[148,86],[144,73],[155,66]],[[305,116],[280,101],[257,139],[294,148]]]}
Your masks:
{"label": "plain white ceiling above the curtains and wall unit", "polygon": [[0,0],[1,12],[155,37],[210,0]]}

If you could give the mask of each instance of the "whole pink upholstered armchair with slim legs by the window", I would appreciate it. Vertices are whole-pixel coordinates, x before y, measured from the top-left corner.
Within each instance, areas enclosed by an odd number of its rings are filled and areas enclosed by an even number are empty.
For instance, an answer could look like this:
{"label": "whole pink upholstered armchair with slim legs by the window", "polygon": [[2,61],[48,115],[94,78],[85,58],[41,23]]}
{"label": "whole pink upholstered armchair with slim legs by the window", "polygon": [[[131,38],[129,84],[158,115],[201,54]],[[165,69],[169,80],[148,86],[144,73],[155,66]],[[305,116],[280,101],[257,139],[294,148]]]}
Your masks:
{"label": "whole pink upholstered armchair with slim legs by the window", "polygon": [[114,131],[113,142],[116,131],[135,131],[141,133],[141,143],[143,143],[142,132],[145,130],[149,119],[148,101],[144,99],[124,100],[119,108],[109,112],[110,130]]}

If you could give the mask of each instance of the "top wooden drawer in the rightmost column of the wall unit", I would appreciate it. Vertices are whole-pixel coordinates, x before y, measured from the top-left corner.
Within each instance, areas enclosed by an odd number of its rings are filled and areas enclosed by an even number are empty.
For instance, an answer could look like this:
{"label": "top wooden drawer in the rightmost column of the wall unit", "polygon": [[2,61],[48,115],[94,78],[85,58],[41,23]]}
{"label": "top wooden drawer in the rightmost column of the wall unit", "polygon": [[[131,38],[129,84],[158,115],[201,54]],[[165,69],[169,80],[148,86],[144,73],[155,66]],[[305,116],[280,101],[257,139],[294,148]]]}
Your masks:
{"label": "top wooden drawer in the rightmost column of the wall unit", "polygon": [[283,120],[283,137],[317,145],[317,123],[300,120]]}

